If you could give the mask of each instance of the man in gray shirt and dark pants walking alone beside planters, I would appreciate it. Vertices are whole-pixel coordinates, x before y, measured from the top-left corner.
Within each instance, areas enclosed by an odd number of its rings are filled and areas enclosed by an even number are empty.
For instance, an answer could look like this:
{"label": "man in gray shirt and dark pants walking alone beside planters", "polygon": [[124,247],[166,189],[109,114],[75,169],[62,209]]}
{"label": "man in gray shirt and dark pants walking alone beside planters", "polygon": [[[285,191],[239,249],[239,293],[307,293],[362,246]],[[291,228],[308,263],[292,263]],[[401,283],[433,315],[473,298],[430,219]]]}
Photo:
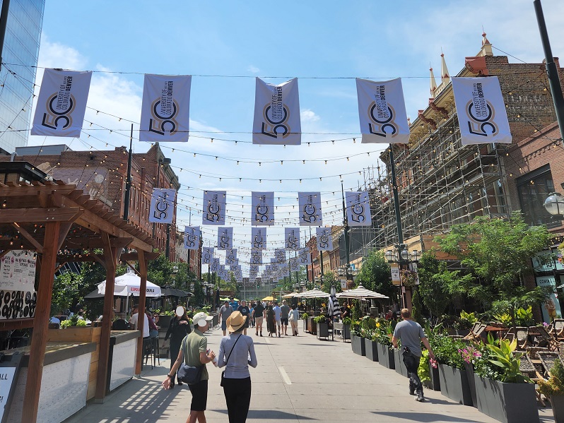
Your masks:
{"label": "man in gray shirt and dark pants walking alone beside planters", "polygon": [[411,311],[401,309],[401,317],[404,318],[404,321],[396,325],[392,344],[394,348],[397,348],[397,341],[401,340],[401,355],[404,357],[404,364],[409,373],[409,395],[417,395],[415,400],[421,403],[425,400],[423,397],[423,385],[417,374],[421,360],[421,342],[429,351],[430,358],[435,359],[435,355],[421,325],[411,320]]}

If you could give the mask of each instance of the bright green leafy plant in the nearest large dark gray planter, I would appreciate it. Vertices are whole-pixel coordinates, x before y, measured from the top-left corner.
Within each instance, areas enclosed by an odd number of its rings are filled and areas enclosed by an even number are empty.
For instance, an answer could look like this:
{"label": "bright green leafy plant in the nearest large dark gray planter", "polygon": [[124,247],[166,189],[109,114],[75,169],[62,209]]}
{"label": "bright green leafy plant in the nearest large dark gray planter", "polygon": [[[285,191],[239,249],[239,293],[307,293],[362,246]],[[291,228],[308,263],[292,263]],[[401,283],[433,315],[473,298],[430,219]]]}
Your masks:
{"label": "bright green leafy plant in the nearest large dark gray planter", "polygon": [[500,422],[538,422],[534,383],[519,371],[517,340],[488,344],[474,364],[478,410]]}

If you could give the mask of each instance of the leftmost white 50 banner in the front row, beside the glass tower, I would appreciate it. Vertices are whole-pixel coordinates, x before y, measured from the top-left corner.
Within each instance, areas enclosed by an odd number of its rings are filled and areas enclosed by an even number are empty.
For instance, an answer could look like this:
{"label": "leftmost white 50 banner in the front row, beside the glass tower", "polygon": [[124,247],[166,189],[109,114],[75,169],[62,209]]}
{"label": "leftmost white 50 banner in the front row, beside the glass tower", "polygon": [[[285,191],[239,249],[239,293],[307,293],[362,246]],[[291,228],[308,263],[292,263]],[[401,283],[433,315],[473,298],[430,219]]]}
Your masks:
{"label": "leftmost white 50 banner in the front row, beside the glass tower", "polygon": [[45,69],[31,135],[80,137],[92,72]]}

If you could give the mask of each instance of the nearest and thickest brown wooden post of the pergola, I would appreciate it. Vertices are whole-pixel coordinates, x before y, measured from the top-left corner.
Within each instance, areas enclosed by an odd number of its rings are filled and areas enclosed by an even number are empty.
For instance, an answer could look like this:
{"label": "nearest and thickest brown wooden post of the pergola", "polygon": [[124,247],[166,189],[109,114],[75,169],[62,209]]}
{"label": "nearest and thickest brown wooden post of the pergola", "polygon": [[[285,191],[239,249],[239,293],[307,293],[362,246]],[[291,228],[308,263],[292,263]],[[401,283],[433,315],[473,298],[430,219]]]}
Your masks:
{"label": "nearest and thickest brown wooden post of the pergola", "polygon": [[45,223],[45,241],[43,242],[43,259],[37,289],[35,324],[31,338],[28,379],[23,398],[22,421],[28,423],[37,422],[60,226],[60,222]]}

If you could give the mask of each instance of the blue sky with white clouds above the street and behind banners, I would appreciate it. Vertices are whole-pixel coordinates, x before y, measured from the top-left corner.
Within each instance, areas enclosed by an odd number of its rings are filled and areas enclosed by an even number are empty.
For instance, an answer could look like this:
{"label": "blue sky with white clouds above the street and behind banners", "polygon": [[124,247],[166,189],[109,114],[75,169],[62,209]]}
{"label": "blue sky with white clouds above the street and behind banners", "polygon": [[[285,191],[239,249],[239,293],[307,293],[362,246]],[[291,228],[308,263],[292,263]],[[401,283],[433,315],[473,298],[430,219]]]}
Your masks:
{"label": "blue sky with white clouds above the street and behind banners", "polygon": [[[275,201],[278,215],[295,220],[295,225],[296,193],[322,191],[324,224],[342,222],[339,177],[329,176],[356,172],[343,177],[346,189],[356,188],[363,184],[363,175],[358,172],[376,167],[377,152],[385,148],[353,143],[350,139],[359,131],[352,78],[401,77],[406,109],[414,119],[418,109],[424,109],[428,103],[429,65],[439,77],[442,49],[450,74],[456,75],[464,66],[464,57],[473,56],[480,49],[482,26],[494,47],[522,61],[539,63],[543,59],[531,0],[326,0],[286,1],[281,7],[274,4],[281,3],[46,1],[40,66],[113,73],[99,72],[93,76],[88,106],[104,113],[88,110],[86,120],[93,121],[96,130],[85,129],[80,140],[31,136],[29,144],[66,143],[73,150],[90,146],[102,150],[106,149],[105,143],[127,145],[130,124],[108,114],[139,122],[143,73],[191,74],[191,138],[182,145],[162,145],[165,155],[172,157],[172,166],[194,171],[180,173],[175,168],[182,184],[180,203],[184,203],[179,209],[178,226],[188,224],[186,207],[201,208],[201,190],[226,190],[227,213],[235,219],[236,244],[245,246],[249,243],[250,227],[238,220],[250,213],[250,191],[275,191],[276,196],[280,193],[281,199]],[[564,4],[560,0],[544,0],[543,6],[553,54],[564,57]],[[494,49],[494,54],[503,53]],[[510,57],[510,61],[517,60]],[[37,84],[41,83],[41,76],[40,71]],[[302,145],[259,147],[218,141],[250,140],[256,76],[270,83],[298,77]],[[266,78],[271,76],[278,78]],[[112,129],[112,133],[102,128]],[[216,140],[211,143],[210,138]],[[339,138],[348,141],[307,146],[308,141]],[[134,143],[136,153],[149,147]],[[175,148],[175,152],[170,148]],[[194,158],[194,152],[264,163],[236,165],[221,158]],[[370,156],[365,154],[370,152]],[[363,154],[352,157],[356,153]],[[345,158],[348,155],[349,161]],[[342,160],[329,161],[327,165],[323,161],[306,165],[287,161],[320,157]],[[269,160],[276,162],[266,163]],[[278,160],[286,162],[281,165]],[[237,178],[265,175],[272,179],[304,180],[301,184],[225,178],[219,181],[204,176],[200,179],[196,176],[199,172]],[[314,179],[305,180],[308,177]],[[192,224],[200,222],[201,216],[194,211]],[[204,228],[210,243],[215,242],[215,232],[211,227]],[[273,248],[282,246],[283,229],[270,229],[269,241]]]}

